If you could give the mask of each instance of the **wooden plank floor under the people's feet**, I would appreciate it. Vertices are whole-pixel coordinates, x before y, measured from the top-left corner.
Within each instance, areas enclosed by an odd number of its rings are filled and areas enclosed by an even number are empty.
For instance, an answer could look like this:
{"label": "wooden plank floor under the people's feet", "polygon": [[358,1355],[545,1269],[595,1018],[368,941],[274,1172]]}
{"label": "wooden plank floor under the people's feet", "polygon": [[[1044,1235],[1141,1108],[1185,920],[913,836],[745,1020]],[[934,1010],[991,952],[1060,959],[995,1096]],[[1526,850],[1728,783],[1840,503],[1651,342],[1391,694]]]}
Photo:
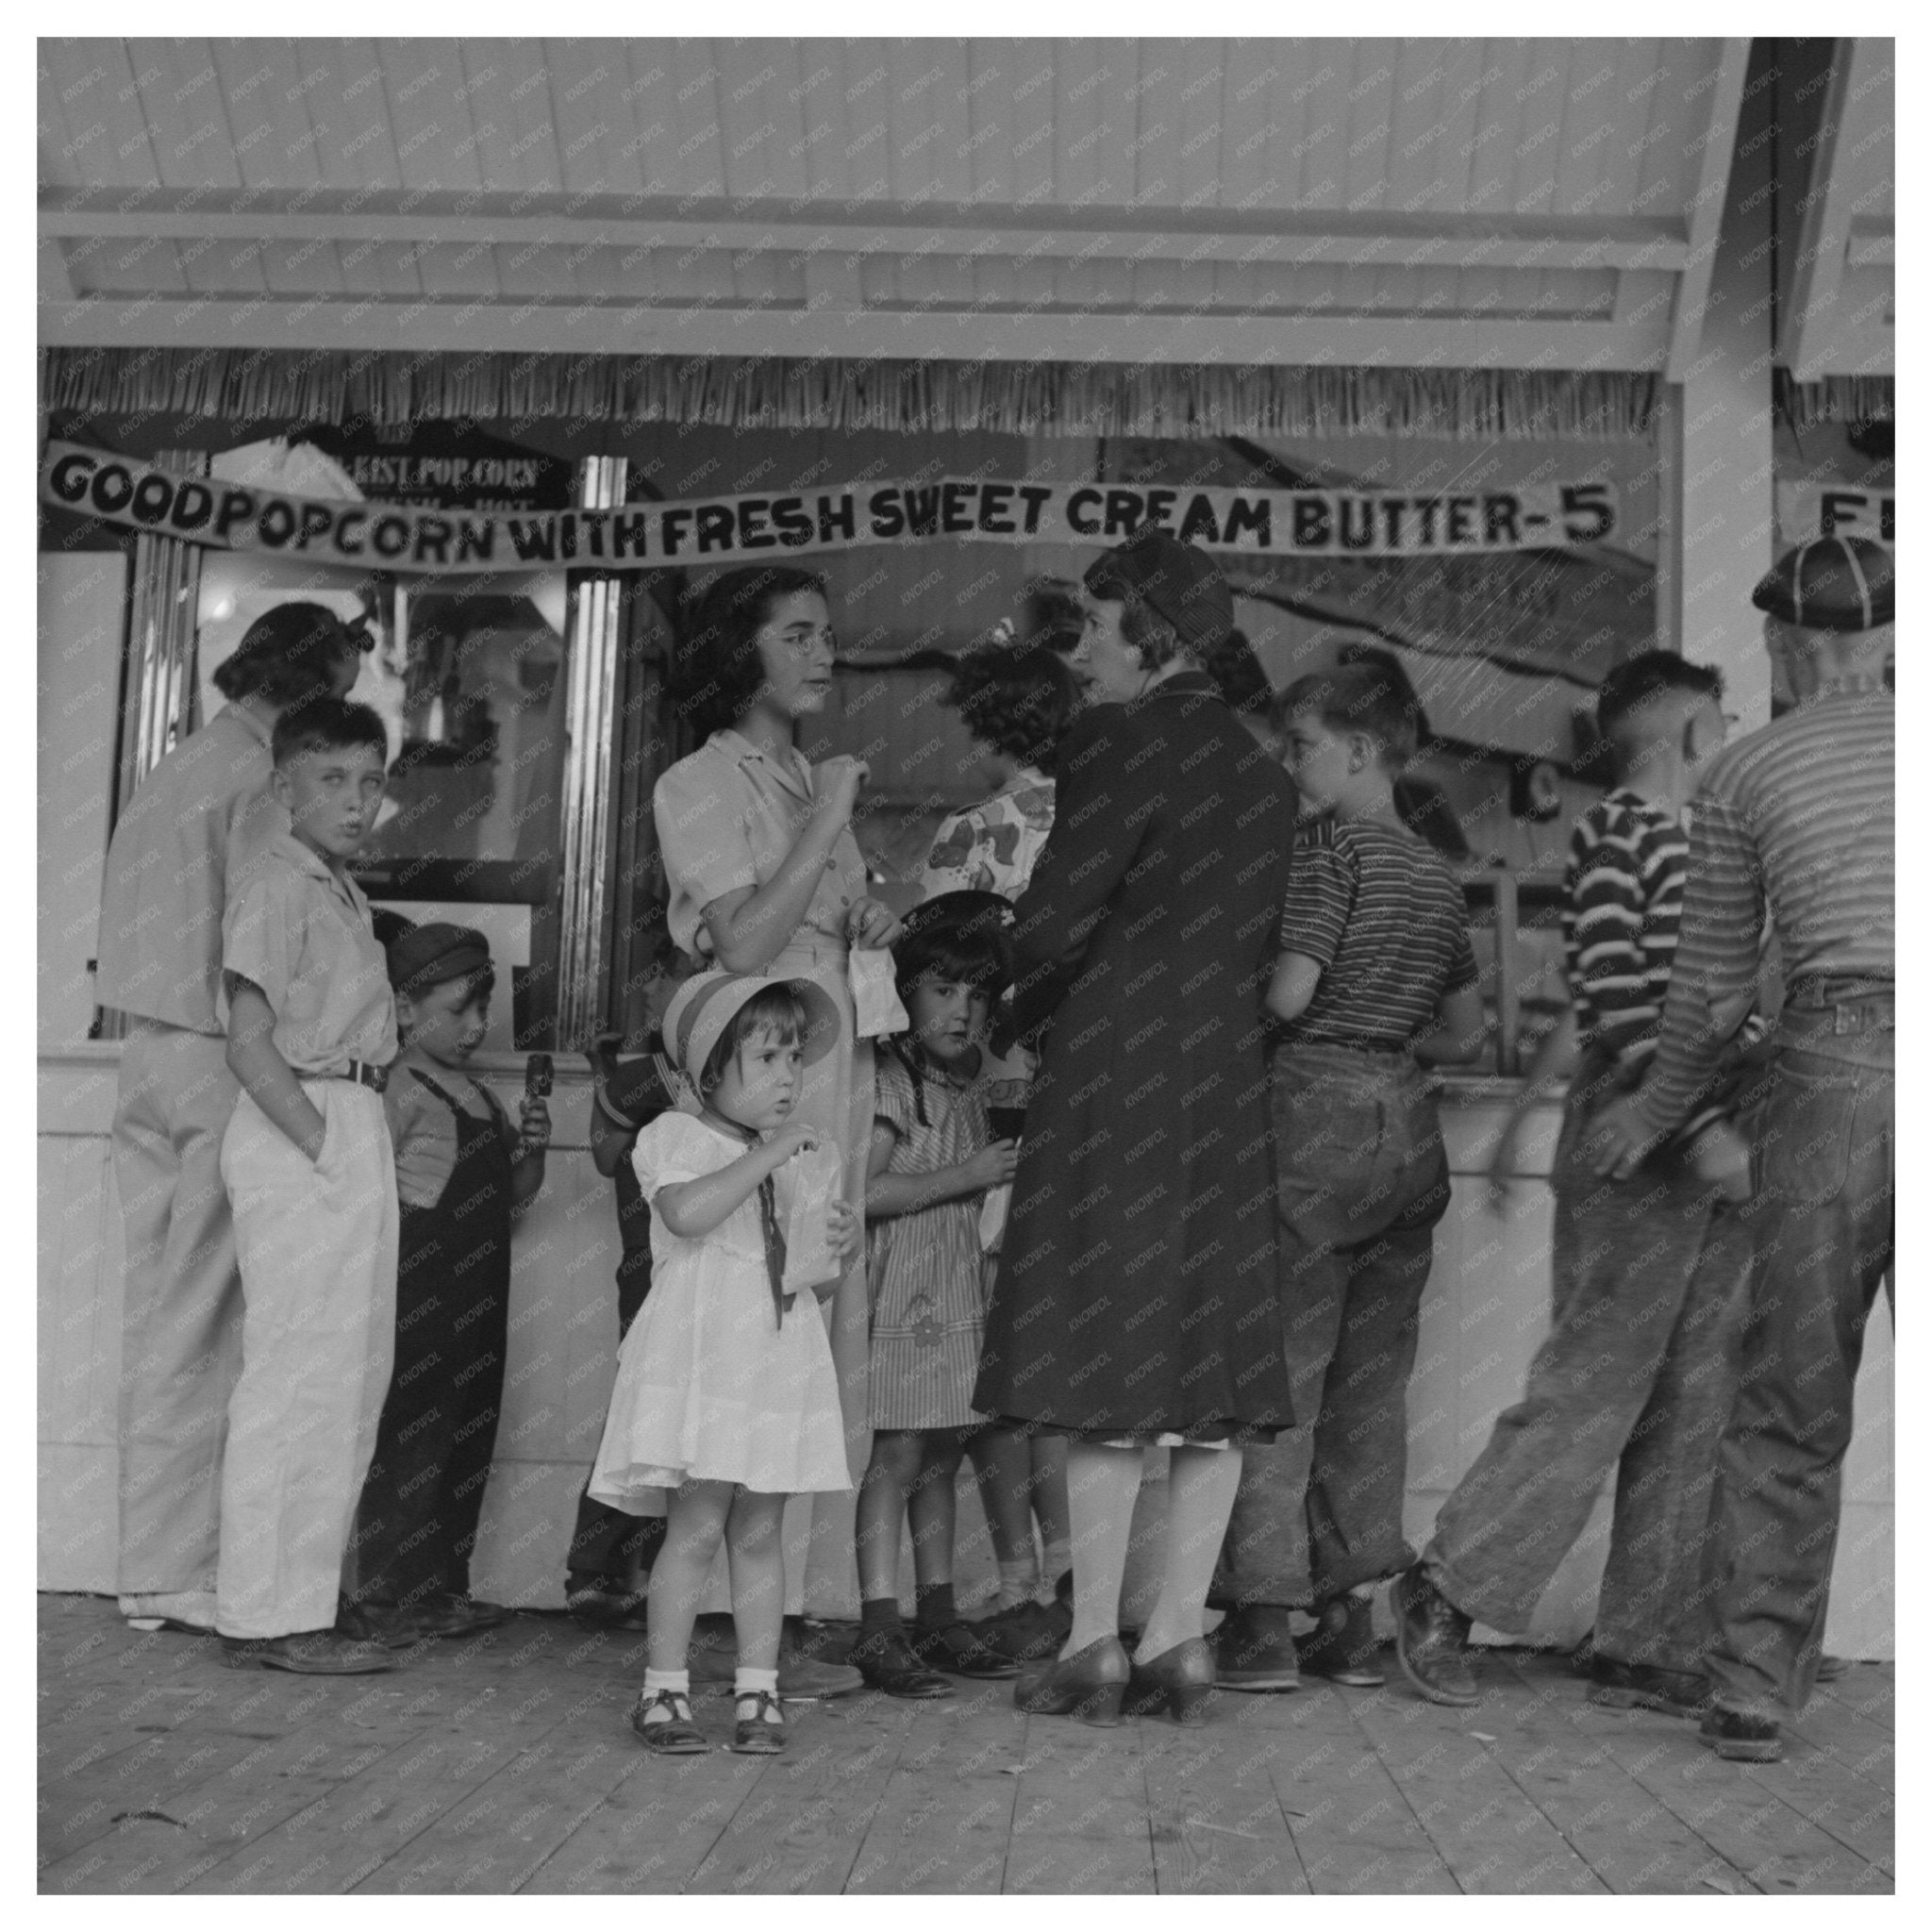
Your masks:
{"label": "wooden plank floor under the people's feet", "polygon": [[796,1710],[781,1758],[649,1758],[641,1669],[639,1638],[518,1617],[384,1677],[243,1675],[43,1596],[41,1891],[1893,1889],[1891,1665],[1764,1766],[1528,1652],[1484,1660],[1478,1710],[1310,1685],[1202,1731],[866,1694]]}

